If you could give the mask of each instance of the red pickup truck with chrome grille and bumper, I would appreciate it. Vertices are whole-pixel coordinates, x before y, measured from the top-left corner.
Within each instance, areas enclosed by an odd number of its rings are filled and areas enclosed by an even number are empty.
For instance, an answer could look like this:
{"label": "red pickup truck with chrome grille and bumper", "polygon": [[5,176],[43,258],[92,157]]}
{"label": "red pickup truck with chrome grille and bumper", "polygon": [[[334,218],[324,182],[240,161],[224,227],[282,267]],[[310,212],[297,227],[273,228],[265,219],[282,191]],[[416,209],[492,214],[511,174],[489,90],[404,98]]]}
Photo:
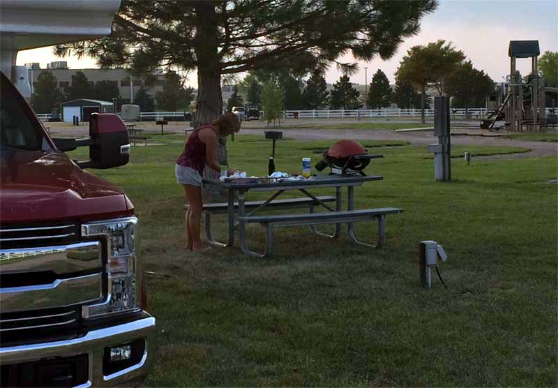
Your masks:
{"label": "red pickup truck with chrome grille and bumper", "polygon": [[[116,114],[93,114],[89,138],[52,139],[0,73],[1,387],[135,384],[153,360],[134,207],[82,170],[128,163]],[[64,151],[89,147],[87,161]]]}

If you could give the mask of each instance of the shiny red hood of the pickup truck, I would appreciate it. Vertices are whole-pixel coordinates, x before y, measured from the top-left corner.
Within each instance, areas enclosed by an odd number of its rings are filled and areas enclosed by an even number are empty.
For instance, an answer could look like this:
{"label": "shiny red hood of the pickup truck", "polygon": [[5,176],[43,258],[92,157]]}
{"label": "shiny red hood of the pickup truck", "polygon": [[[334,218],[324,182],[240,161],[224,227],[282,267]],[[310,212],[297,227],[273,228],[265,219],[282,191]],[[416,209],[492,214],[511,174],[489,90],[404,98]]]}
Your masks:
{"label": "shiny red hood of the pickup truck", "polygon": [[1,223],[86,221],[133,212],[122,191],[84,172],[63,152],[2,147],[0,163]]}

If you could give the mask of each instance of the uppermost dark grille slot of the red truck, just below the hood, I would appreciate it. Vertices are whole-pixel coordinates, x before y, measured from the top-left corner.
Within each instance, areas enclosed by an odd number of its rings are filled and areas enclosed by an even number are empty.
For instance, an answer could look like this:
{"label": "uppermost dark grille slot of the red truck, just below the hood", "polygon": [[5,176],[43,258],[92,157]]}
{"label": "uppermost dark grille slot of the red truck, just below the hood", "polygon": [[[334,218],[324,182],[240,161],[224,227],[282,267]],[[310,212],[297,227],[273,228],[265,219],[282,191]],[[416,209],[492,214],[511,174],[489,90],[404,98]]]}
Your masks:
{"label": "uppermost dark grille slot of the red truck, just below the hood", "polygon": [[70,244],[80,238],[80,227],[75,223],[47,225],[2,225],[0,226],[0,248],[32,248]]}

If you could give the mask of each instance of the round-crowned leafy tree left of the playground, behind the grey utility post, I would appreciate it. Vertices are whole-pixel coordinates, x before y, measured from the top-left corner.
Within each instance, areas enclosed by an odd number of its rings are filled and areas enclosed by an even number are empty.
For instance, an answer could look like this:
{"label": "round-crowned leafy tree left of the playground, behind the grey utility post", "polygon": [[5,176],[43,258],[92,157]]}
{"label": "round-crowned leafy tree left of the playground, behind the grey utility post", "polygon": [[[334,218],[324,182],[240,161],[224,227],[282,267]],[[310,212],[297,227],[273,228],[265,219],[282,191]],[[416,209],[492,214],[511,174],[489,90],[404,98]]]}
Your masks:
{"label": "round-crowned leafy tree left of the playground, behind the grey utility post", "polygon": [[444,77],[449,75],[455,67],[465,59],[465,54],[455,50],[451,43],[438,40],[428,45],[413,46],[400,61],[395,77],[411,82],[413,87],[421,91],[421,121],[424,122],[424,105],[426,88],[439,83],[443,92]]}

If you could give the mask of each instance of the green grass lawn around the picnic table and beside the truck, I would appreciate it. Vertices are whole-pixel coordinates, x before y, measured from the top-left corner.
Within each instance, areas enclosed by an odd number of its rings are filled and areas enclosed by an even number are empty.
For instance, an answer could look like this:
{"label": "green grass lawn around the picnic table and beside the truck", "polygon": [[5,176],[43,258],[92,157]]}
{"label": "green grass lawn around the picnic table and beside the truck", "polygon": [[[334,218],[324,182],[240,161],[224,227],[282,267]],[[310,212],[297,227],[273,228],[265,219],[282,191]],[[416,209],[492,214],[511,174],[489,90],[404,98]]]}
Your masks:
{"label": "green grass lawn around the picnic table and beside the truck", "polygon": [[[314,165],[312,150],[331,143],[281,142],[276,167],[299,172],[301,157]],[[266,172],[269,141],[239,135],[228,144],[231,167]],[[374,144],[382,146],[366,143]],[[146,386],[558,385],[557,185],[546,183],[557,179],[555,158],[456,159],[453,182],[437,183],[426,147],[374,148],[384,158],[367,170],[384,180],[356,188],[356,207],[404,209],[387,218],[386,245],[374,251],[346,234],[281,228],[276,255],[262,260],[238,248],[183,251],[174,179],[182,147],[133,147],[128,165],[91,170],[134,202],[144,269],[173,276],[146,278],[158,324]],[[462,151],[519,149],[454,148]],[[225,217],[213,225],[225,239]],[[356,230],[366,240],[375,225]],[[250,225],[248,237],[263,246],[261,227]],[[416,248],[425,239],[448,253],[440,269],[447,289],[437,278],[430,292],[418,286]]]}

